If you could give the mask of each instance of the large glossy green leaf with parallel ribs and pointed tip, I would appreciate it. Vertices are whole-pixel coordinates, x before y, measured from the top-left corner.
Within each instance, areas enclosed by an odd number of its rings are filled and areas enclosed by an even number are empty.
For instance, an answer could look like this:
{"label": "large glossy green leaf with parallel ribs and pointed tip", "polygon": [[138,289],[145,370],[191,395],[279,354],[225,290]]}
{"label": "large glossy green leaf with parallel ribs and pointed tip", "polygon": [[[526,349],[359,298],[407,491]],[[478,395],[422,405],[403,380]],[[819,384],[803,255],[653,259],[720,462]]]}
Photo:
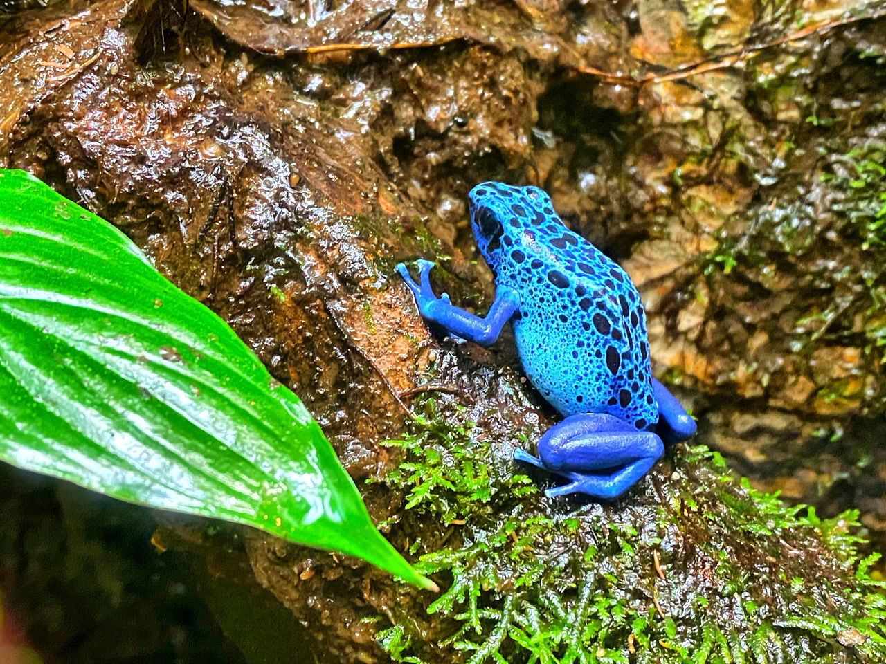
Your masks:
{"label": "large glossy green leaf with parallel ribs and pointed tip", "polygon": [[299,398],[128,238],[0,170],[0,460],[424,588]]}

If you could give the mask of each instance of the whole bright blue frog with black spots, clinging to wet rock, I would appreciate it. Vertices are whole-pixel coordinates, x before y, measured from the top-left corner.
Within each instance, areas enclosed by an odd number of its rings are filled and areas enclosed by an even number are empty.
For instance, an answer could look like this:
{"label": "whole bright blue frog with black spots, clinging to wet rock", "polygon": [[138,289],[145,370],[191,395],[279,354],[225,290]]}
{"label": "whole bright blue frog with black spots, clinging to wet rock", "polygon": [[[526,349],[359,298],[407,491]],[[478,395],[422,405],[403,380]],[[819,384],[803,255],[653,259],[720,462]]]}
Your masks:
{"label": "whole bright blue frog with black spots, clinging to wet rock", "polygon": [[652,377],[640,294],[618,265],[563,225],[537,187],[483,182],[470,190],[470,220],[495,277],[486,318],[436,297],[418,261],[419,283],[397,272],[425,320],[453,336],[493,344],[510,320],[526,373],[564,419],[514,458],[568,480],[548,496],[615,498],[696,423]]}

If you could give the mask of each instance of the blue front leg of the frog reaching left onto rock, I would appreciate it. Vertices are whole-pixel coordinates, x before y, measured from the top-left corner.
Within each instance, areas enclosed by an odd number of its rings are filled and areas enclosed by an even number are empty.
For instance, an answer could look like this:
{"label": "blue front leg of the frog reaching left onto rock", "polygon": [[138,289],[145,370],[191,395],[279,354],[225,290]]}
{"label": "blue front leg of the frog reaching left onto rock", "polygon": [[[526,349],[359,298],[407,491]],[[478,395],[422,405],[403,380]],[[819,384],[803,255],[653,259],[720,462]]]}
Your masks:
{"label": "blue front leg of the frog reaching left onto rock", "polygon": [[403,281],[416,296],[418,311],[424,320],[430,320],[445,328],[451,335],[467,339],[475,344],[494,344],[501,333],[501,328],[508,322],[514,312],[520,306],[520,296],[516,290],[498,287],[495,289],[495,300],[489,307],[486,318],[480,318],[473,313],[468,313],[449,302],[449,296],[444,293],[441,297],[434,295],[431,289],[431,279],[428,273],[434,266],[430,260],[416,261],[418,265],[419,281],[421,285],[413,281],[405,265],[398,263],[395,269],[403,277]]}

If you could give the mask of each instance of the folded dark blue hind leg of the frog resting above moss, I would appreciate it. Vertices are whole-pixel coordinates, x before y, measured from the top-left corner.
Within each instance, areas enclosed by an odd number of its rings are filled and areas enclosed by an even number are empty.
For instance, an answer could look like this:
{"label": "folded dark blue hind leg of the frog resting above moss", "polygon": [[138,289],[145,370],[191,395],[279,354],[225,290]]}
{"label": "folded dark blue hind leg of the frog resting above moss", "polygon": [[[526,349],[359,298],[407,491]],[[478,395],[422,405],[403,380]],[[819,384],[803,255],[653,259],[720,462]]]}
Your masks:
{"label": "folded dark blue hind leg of the frog resting above moss", "polygon": [[616,498],[630,489],[664,453],[661,438],[601,413],[570,415],[539,440],[536,459],[523,450],[514,459],[531,463],[571,480],[548,489],[548,497],[586,493]]}

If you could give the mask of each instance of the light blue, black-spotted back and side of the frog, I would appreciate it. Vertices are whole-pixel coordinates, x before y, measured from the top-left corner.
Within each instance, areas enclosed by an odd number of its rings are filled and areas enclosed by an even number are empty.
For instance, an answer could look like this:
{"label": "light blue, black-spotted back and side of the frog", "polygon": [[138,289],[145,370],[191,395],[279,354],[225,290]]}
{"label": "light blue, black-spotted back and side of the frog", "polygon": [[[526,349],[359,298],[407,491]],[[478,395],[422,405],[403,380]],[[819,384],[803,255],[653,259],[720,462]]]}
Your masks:
{"label": "light blue, black-spotted back and side of the frog", "polygon": [[563,415],[609,413],[649,429],[657,403],[630,278],[566,228],[540,189],[501,187],[512,216],[493,267],[498,284],[520,293],[513,321],[527,377]]}

